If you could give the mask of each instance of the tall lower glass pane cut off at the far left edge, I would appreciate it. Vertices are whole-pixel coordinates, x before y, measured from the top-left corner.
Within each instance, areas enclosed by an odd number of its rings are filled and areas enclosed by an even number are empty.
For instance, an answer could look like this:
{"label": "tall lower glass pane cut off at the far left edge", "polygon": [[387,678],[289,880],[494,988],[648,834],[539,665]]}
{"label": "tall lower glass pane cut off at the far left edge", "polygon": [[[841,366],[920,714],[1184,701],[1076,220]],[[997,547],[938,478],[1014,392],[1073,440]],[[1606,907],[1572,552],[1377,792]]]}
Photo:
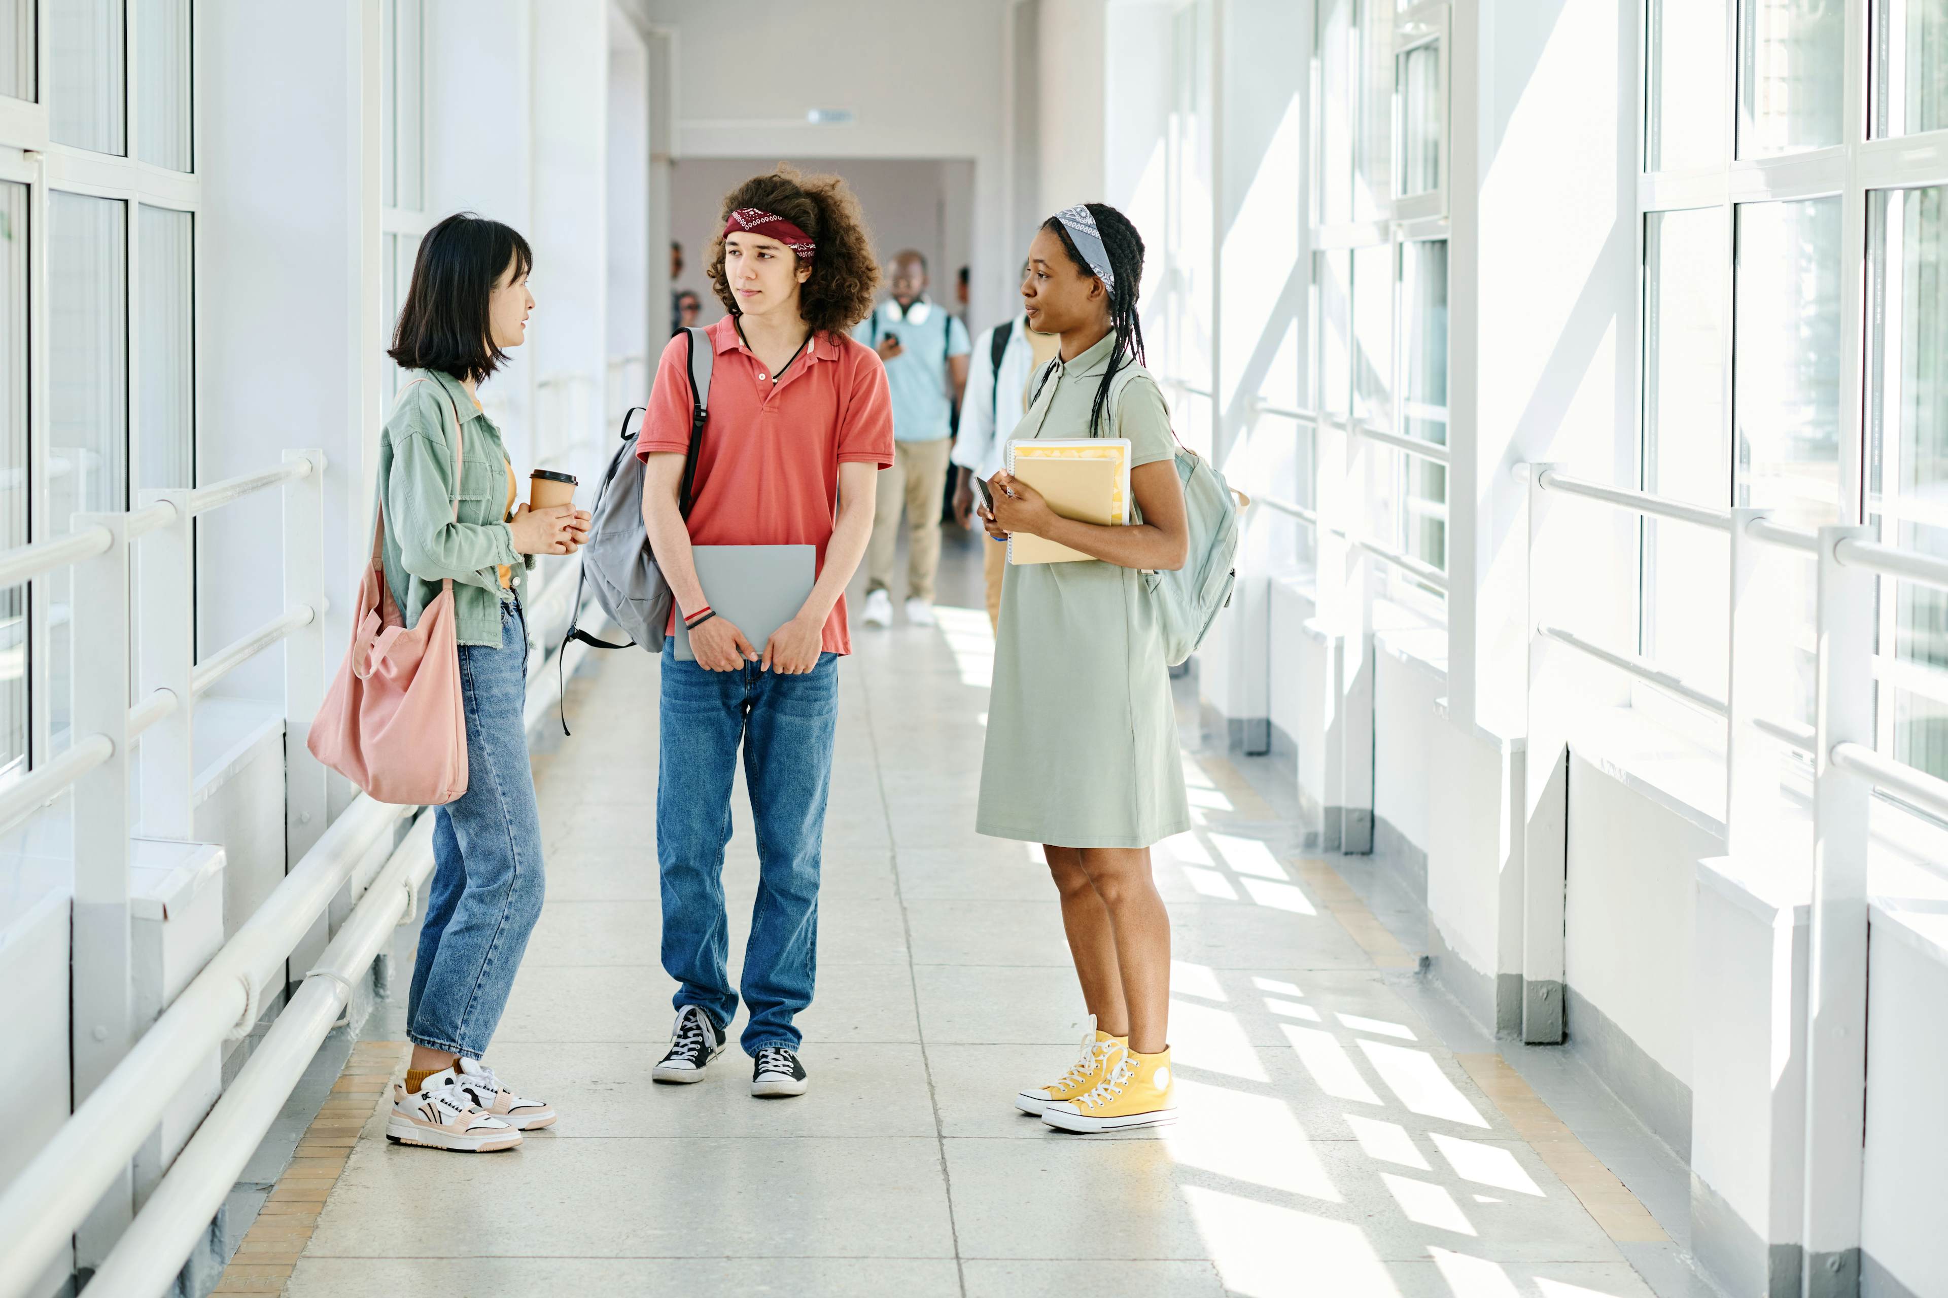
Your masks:
{"label": "tall lower glass pane cut off at the far left edge", "polygon": [[[0,183],[0,549],[27,543],[27,187]],[[0,590],[0,780],[27,761],[27,588]]]}

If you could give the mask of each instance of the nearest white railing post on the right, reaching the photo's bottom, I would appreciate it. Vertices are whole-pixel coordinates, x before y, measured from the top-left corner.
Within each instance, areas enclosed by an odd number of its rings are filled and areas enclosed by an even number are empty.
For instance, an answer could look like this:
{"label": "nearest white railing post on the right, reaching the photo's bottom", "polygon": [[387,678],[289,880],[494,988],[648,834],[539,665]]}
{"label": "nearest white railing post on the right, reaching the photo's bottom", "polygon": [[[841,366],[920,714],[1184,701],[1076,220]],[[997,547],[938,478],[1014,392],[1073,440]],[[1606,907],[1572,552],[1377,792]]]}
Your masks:
{"label": "nearest white railing post on the right, reaching the photo's bottom", "polygon": [[1868,568],[1835,547],[1866,527],[1819,529],[1814,714],[1814,887],[1806,987],[1806,1273],[1808,1298],[1858,1292],[1866,1129],[1866,776],[1833,747],[1874,747],[1874,595]]}

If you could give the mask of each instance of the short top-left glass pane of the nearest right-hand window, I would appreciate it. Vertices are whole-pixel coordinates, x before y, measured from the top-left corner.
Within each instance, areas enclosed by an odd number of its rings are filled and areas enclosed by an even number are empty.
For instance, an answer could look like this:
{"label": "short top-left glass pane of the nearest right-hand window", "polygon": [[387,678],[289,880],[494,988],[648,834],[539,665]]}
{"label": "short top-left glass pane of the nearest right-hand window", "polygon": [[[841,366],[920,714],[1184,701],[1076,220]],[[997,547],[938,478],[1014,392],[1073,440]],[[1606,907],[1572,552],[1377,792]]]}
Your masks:
{"label": "short top-left glass pane of the nearest right-hand window", "polygon": [[1726,0],[1652,0],[1644,169],[1724,163]]}

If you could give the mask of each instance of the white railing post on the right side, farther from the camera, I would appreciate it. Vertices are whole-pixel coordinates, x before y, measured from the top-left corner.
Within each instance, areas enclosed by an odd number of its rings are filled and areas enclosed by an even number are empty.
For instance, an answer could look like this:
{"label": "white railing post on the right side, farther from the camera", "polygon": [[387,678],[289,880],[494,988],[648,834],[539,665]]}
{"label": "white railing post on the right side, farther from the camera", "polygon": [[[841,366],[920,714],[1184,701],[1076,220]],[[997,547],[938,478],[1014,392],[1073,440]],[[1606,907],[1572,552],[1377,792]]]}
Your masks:
{"label": "white railing post on the right side, farther from the camera", "polygon": [[1527,753],[1521,831],[1521,1039],[1562,1041],[1566,987],[1562,907],[1568,887],[1568,706],[1562,650],[1537,632],[1555,564],[1549,549],[1549,490],[1543,475],[1560,465],[1527,465],[1527,559],[1523,640],[1529,646]]}

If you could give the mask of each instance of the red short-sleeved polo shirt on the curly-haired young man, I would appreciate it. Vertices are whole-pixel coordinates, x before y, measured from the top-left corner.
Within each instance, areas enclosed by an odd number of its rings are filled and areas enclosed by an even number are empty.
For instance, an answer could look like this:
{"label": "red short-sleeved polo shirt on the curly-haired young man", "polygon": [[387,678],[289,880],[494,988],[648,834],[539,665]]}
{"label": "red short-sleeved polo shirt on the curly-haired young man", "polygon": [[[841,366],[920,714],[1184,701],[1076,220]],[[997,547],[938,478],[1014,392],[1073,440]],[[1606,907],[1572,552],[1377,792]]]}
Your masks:
{"label": "red short-sleeved polo shirt on the curly-haired young man", "polygon": [[[723,317],[705,331],[717,348],[711,415],[703,424],[690,508],[692,545],[816,545],[826,566],[838,512],[840,465],[892,465],[892,397],[879,354],[847,337],[816,333],[775,385]],[[662,348],[639,459],[690,450],[690,348],[682,333]],[[709,592],[703,592],[709,595]],[[820,644],[849,654],[845,597],[832,605]]]}

